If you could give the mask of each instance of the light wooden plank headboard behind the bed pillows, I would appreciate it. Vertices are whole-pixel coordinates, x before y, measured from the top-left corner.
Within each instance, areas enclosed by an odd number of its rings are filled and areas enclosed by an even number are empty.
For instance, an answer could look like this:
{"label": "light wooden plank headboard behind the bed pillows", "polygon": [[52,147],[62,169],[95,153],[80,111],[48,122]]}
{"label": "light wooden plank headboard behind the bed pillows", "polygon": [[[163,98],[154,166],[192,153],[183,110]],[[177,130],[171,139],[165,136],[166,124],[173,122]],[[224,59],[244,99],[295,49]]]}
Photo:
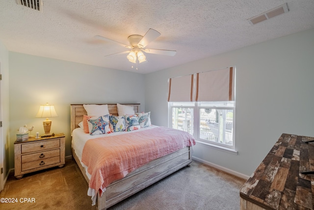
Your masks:
{"label": "light wooden plank headboard behind the bed pillows", "polygon": [[[102,105],[102,104],[98,104]],[[134,112],[139,112],[139,104],[123,104],[133,106]],[[108,111],[111,115],[118,116],[117,104],[108,104]],[[83,104],[71,104],[71,133],[78,127],[78,123],[83,120],[83,115],[87,115]]]}

